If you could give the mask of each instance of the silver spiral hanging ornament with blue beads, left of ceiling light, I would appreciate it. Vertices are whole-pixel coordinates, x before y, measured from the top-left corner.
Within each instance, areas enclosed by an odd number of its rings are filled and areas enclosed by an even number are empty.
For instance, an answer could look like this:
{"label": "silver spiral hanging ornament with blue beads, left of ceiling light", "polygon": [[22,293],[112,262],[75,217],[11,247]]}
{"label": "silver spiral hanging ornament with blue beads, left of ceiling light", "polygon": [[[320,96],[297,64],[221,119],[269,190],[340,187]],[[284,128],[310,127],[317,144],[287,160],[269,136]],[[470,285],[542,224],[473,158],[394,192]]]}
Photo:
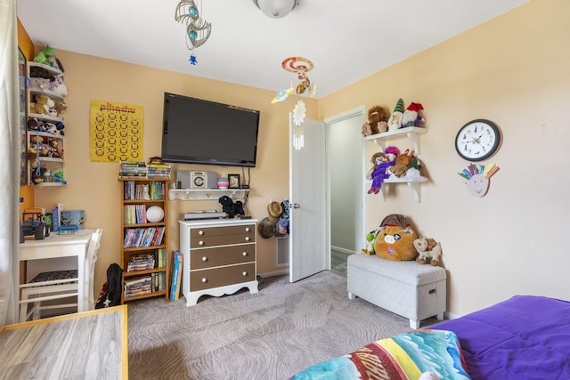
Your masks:
{"label": "silver spiral hanging ornament with blue beads, left of ceiling light", "polygon": [[[199,2],[199,7],[196,2]],[[200,17],[201,11],[201,0],[181,0],[176,5],[175,20],[186,25],[186,47],[191,51],[208,41],[212,31],[212,24]],[[198,58],[191,53],[188,61],[196,65]]]}

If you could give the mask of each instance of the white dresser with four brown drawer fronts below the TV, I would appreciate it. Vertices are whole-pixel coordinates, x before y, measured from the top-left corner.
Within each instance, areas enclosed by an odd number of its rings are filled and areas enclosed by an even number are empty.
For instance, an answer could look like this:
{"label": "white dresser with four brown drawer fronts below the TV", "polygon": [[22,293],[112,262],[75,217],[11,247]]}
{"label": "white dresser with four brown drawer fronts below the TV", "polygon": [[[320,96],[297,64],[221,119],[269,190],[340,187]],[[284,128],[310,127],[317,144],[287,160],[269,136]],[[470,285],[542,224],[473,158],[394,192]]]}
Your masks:
{"label": "white dresser with four brown drawer fronts below the TV", "polygon": [[242,287],[257,293],[255,219],[180,221],[183,295],[186,305],[201,295],[231,295]]}

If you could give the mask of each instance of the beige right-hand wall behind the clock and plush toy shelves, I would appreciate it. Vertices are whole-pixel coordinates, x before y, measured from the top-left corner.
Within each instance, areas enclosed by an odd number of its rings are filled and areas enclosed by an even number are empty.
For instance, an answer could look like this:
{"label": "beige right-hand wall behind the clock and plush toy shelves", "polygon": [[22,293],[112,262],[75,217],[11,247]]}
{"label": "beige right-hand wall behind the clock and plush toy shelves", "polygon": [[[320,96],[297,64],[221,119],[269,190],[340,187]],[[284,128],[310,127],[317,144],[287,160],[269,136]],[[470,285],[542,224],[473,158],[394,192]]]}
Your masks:
{"label": "beige right-hand wall behind the clock and plush toy shelves", "polygon": [[[570,299],[567,46],[570,2],[534,0],[319,102],[320,118],[362,103],[392,110],[399,97],[424,105],[419,158],[430,180],[422,202],[402,184],[386,202],[367,196],[367,227],[405,214],[441,241],[454,314],[517,294]],[[501,150],[484,162],[501,168],[484,198],[471,196],[457,174],[468,162],[453,145],[475,118],[493,120],[503,134]],[[369,142],[368,157],[377,149]]]}

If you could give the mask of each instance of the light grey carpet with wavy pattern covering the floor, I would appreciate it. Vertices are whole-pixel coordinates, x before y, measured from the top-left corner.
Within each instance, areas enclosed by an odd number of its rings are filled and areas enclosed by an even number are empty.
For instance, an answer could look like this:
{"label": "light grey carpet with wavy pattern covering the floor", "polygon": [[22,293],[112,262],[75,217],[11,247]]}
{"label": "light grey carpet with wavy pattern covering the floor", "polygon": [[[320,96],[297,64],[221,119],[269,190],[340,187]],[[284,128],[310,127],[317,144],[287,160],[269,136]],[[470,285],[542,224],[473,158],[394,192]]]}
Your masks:
{"label": "light grey carpet with wavy pattern covering the floor", "polygon": [[[379,289],[381,291],[381,289]],[[362,299],[346,278],[322,271],[259,293],[202,296],[186,307],[152,298],[128,303],[131,379],[288,379],[322,360],[409,331],[408,320]]]}

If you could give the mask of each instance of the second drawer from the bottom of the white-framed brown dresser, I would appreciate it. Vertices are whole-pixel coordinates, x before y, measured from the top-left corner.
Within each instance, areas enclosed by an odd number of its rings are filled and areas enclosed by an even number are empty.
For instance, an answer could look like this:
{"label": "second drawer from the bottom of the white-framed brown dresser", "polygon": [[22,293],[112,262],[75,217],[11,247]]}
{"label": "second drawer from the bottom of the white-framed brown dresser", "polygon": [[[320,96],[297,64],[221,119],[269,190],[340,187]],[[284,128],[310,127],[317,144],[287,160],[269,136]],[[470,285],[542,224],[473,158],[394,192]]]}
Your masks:
{"label": "second drawer from the bottom of the white-framed brown dresser", "polygon": [[230,247],[192,249],[190,251],[190,269],[212,268],[222,265],[250,263],[256,261],[256,246],[245,244]]}

